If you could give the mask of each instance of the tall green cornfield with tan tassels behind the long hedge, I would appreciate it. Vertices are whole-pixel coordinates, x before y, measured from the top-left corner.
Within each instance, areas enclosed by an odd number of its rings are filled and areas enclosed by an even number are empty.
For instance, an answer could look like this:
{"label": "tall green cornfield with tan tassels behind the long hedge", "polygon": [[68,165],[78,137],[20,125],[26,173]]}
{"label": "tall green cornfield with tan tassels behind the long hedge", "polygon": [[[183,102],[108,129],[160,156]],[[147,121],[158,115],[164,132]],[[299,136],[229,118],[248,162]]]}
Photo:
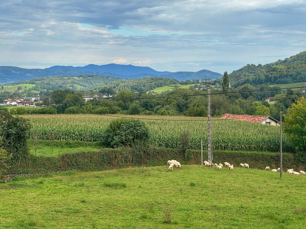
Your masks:
{"label": "tall green cornfield with tan tassels behind the long hedge", "polygon": [[[39,136],[49,140],[80,140],[96,142],[102,140],[102,132],[113,117],[99,115],[22,115],[32,123],[30,137]],[[132,117],[132,116],[130,116]],[[150,142],[155,146],[180,147],[179,134],[186,129],[190,133],[190,149],[200,149],[207,142],[207,122],[193,121],[205,117],[186,116],[140,116],[139,118],[184,119],[188,121],[142,120],[151,130]],[[214,150],[279,151],[279,127],[239,120],[212,121],[212,147]],[[283,150],[292,151],[283,139]]]}

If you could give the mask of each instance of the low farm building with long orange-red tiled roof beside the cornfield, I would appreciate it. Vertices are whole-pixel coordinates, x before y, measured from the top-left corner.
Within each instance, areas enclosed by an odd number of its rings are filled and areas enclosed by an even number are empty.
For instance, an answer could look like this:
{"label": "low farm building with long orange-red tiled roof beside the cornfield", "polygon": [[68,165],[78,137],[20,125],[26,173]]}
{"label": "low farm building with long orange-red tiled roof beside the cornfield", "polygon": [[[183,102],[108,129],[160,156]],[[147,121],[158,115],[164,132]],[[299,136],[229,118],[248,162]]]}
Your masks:
{"label": "low farm building with long orange-red tiled roof beside the cornfield", "polygon": [[233,115],[233,114],[224,114],[221,118],[223,119],[236,119],[236,120],[243,120],[247,122],[255,122],[255,123],[260,123],[263,125],[278,125],[279,126],[279,121],[276,119],[272,118],[269,115]]}

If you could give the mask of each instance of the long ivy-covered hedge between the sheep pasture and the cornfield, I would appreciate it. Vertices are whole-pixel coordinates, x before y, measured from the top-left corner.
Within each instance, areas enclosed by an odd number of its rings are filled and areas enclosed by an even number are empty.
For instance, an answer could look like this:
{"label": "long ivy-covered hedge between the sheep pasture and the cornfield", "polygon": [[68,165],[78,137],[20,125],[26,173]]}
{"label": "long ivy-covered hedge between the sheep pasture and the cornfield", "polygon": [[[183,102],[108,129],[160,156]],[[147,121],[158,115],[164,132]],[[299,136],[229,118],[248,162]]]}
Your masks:
{"label": "long ivy-covered hedge between the sheep pasture and the cornfield", "polygon": [[[184,164],[200,164],[200,151],[188,150],[187,158],[176,149],[165,147],[150,148],[103,148],[100,151],[80,151],[67,153],[58,157],[29,155],[21,161],[11,161],[7,174],[50,173],[67,170],[96,171],[128,168],[133,166],[166,165],[167,160],[176,159]],[[234,166],[248,163],[250,168],[264,169],[279,167],[278,153],[248,151],[214,151],[215,163],[229,162]],[[205,153],[203,155],[205,160]],[[305,164],[297,160],[291,153],[283,154],[283,168],[304,170]]]}

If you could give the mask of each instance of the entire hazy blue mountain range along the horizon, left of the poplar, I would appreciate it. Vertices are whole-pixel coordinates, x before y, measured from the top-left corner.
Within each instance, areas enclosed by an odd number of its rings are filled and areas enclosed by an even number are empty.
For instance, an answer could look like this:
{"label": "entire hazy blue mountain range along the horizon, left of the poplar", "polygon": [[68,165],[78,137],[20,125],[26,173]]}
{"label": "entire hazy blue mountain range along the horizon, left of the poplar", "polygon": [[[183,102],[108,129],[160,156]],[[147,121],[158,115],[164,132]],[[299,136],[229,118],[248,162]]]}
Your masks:
{"label": "entire hazy blue mountain range along the horizon, left of the poplar", "polygon": [[73,67],[73,66],[52,66],[45,69],[34,68],[27,69],[13,66],[0,66],[0,84],[17,82],[19,80],[28,80],[36,77],[44,76],[58,76],[58,75],[69,75],[77,76],[81,74],[93,74],[93,75],[104,75],[113,76],[116,78],[134,78],[140,79],[144,77],[156,77],[162,76],[166,78],[174,78],[177,80],[186,79],[202,79],[202,78],[213,78],[216,79],[222,75],[217,72],[209,71],[206,69],[190,72],[190,71],[156,71],[150,67],[141,67],[134,65],[124,64],[105,64],[95,65],[88,64],[84,67]]}

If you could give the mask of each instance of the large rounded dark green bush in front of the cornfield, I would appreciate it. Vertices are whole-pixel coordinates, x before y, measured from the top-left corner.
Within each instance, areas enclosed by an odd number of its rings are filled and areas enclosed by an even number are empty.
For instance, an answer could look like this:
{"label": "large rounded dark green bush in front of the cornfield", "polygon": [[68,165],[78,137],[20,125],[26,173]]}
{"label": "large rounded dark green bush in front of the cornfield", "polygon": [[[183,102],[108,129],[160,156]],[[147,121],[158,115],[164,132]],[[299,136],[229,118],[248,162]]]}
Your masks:
{"label": "large rounded dark green bush in front of the cornfield", "polygon": [[137,119],[114,119],[103,133],[103,143],[108,147],[142,146],[147,144],[150,131]]}

